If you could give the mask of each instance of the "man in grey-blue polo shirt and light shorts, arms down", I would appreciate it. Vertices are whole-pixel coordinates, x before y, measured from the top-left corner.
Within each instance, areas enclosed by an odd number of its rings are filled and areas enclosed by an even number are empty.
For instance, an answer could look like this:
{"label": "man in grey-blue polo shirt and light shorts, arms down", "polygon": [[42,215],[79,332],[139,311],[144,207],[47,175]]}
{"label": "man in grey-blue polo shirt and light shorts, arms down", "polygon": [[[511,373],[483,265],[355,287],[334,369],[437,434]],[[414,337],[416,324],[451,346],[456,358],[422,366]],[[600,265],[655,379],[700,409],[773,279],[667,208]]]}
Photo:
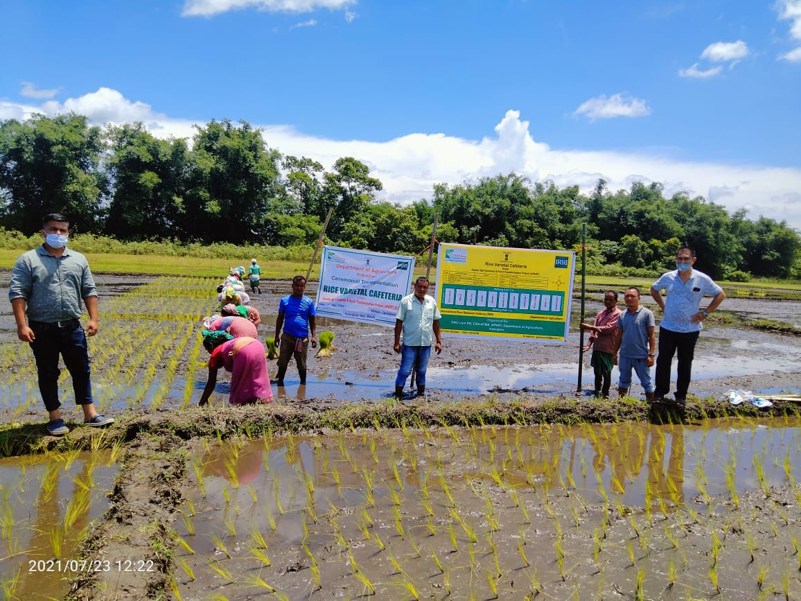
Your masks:
{"label": "man in grey-blue polo shirt and light shorts, arms down", "polygon": [[621,337],[614,345],[614,365],[618,366],[618,396],[625,397],[631,387],[631,371],[637,373],[642,388],[646,391],[646,399],[654,400],[654,382],[650,369],[654,366],[654,313],[640,306],[639,288],[626,288],[623,293],[626,311],[618,318],[618,329]]}

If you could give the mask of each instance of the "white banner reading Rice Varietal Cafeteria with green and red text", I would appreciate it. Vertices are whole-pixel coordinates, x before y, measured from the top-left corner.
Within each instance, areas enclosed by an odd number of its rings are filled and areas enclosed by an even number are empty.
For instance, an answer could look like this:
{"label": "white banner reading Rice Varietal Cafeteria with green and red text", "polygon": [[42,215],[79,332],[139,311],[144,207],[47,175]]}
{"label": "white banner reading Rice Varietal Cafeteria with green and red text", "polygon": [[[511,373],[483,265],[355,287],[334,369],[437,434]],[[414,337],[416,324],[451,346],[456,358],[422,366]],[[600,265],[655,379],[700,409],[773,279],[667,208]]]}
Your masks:
{"label": "white banner reading Rice Varietal Cafeteria with green and red text", "polygon": [[395,325],[411,292],[414,257],[325,246],[316,309],[320,317]]}

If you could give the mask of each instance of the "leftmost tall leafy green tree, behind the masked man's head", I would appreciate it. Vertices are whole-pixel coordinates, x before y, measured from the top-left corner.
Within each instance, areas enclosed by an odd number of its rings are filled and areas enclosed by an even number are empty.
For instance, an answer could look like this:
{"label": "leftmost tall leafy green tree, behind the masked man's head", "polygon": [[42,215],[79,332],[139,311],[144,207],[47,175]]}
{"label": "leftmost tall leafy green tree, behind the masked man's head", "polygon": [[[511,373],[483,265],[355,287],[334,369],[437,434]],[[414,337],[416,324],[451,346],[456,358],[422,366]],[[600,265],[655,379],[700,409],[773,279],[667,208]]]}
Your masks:
{"label": "leftmost tall leafy green tree, behind the masked man's head", "polygon": [[59,212],[78,232],[103,227],[107,179],[100,168],[103,136],[82,115],[33,115],[0,121],[0,219],[22,232]]}

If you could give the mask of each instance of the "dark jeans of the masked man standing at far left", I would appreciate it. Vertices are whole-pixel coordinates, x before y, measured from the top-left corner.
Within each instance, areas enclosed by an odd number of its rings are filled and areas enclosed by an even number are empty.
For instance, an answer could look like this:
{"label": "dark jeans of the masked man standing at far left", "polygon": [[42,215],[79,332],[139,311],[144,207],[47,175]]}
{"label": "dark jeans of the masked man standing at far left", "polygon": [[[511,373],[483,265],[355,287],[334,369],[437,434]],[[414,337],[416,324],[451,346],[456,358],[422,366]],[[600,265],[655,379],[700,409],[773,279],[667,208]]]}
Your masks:
{"label": "dark jeans of the masked man standing at far left", "polygon": [[80,321],[62,321],[57,324],[45,324],[31,321],[30,329],[34,331],[34,341],[30,348],[36,358],[36,369],[39,377],[39,392],[48,411],[55,411],[61,406],[58,401],[58,356],[64,357],[64,365],[72,376],[72,388],[75,392],[75,404],[87,405],[92,402],[91,367],[89,366],[89,350],[87,336],[83,333]]}

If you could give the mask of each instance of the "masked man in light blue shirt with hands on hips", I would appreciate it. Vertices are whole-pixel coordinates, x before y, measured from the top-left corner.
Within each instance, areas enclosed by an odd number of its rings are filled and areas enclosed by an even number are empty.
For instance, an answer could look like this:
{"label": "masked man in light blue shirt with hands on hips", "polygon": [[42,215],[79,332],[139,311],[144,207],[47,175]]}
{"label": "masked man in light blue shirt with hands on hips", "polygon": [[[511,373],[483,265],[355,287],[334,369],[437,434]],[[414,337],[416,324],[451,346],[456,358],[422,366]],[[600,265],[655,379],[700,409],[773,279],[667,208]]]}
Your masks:
{"label": "masked man in light blue shirt with hands on hips", "polygon": [[[656,389],[654,400],[660,401],[670,392],[670,363],[678,352],[676,373],[676,402],[686,403],[690,388],[695,343],[701,333],[702,321],[709,317],[726,298],[723,288],[706,273],[693,268],[695,251],[682,246],[676,252],[676,269],[662,274],[650,288],[656,304],[665,312],[659,322],[659,351],[656,360]],[[662,288],[666,296],[662,298]],[[701,309],[703,296],[712,296],[706,309]]]}

